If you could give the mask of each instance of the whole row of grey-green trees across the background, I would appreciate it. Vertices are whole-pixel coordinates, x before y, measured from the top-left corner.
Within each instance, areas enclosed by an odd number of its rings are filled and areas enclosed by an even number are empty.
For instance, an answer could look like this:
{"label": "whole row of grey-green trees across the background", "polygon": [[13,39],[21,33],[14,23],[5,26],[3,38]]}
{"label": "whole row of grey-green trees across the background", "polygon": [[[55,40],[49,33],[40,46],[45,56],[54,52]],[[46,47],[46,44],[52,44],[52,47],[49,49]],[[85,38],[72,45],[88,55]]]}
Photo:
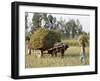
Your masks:
{"label": "whole row of grey-green trees across the background", "polygon": [[[30,23],[30,25],[28,24],[29,22],[27,12],[25,13],[26,36],[32,35],[34,31],[41,27],[59,32],[62,39],[77,38],[82,32],[84,32],[79,19],[69,19],[69,21],[66,21],[61,17],[59,20],[57,20],[57,18],[52,14],[47,13],[33,13],[32,23]],[[89,35],[89,33],[87,35]]]}

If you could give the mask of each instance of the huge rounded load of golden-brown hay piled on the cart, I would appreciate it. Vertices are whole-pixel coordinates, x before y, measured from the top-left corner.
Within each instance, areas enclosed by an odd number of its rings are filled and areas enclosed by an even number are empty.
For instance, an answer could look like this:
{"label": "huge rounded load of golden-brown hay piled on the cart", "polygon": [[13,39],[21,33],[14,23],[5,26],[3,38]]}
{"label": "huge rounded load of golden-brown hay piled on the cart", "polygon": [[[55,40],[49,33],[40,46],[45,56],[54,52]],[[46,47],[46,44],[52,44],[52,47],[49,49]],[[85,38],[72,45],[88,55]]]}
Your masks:
{"label": "huge rounded load of golden-brown hay piled on the cart", "polygon": [[44,28],[39,28],[31,36],[31,43],[33,49],[43,48],[49,49],[53,47],[55,42],[60,42],[60,34]]}

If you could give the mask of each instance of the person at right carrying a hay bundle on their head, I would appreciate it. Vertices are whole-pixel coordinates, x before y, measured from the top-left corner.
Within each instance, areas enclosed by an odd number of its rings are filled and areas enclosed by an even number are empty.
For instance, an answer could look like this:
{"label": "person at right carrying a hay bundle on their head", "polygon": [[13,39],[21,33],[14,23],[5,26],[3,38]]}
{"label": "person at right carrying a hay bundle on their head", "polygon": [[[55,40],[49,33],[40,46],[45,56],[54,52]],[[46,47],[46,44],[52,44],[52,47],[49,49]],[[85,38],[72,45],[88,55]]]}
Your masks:
{"label": "person at right carrying a hay bundle on their head", "polygon": [[79,36],[79,44],[81,48],[80,61],[82,64],[86,64],[86,43],[88,43],[87,35],[83,33]]}

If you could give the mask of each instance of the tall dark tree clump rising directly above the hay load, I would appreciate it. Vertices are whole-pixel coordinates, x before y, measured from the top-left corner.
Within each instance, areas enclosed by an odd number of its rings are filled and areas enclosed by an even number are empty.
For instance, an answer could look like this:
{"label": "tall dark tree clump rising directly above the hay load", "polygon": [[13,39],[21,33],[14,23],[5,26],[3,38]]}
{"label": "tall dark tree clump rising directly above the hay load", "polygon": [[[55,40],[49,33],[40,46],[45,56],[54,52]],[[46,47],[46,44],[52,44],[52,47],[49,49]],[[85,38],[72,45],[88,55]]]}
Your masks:
{"label": "tall dark tree clump rising directly above the hay load", "polygon": [[57,25],[56,17],[53,17],[51,14],[48,15],[47,13],[34,13],[32,22],[33,32],[40,27],[55,30]]}

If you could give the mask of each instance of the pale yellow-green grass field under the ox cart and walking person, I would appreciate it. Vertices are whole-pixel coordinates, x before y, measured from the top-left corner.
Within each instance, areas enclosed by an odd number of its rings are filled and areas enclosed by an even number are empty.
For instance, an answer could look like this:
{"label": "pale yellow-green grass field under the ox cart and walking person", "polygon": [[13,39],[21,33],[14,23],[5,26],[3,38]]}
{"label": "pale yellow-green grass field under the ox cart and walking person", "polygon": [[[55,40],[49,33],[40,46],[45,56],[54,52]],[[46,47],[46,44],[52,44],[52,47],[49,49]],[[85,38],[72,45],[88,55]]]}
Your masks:
{"label": "pale yellow-green grass field under the ox cart and walking person", "polygon": [[[44,54],[43,57],[36,57],[36,54],[25,55],[25,68],[36,67],[62,67],[62,66],[80,66],[80,47],[70,46],[64,53],[64,58],[61,58],[60,53],[57,57],[52,57],[49,54]],[[89,65],[89,47],[86,47],[86,65]]]}

